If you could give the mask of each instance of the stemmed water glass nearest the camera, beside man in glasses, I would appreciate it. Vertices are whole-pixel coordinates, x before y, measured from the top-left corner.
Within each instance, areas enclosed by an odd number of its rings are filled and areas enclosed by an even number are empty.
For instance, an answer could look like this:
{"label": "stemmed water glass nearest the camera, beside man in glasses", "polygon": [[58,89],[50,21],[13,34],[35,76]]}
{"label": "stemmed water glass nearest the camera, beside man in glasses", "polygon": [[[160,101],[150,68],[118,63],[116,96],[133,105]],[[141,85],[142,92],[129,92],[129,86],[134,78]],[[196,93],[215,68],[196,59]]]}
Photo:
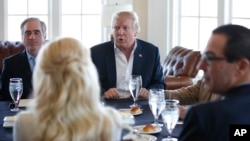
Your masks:
{"label": "stemmed water glass nearest the camera, beside man in glasses", "polygon": [[169,133],[167,138],[164,138],[162,141],[177,141],[176,138],[171,137],[172,131],[175,128],[176,123],[179,120],[179,100],[168,99],[166,100],[166,107],[162,111],[161,116],[164,122],[165,127]]}

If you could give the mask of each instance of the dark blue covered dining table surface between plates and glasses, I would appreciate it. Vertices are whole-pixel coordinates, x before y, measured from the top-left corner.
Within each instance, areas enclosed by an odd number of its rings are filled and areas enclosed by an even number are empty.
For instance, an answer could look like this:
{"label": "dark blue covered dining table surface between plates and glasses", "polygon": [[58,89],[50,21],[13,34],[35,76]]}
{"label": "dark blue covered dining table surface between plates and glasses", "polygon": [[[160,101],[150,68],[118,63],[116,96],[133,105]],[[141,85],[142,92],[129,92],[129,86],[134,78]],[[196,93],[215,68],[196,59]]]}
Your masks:
{"label": "dark blue covered dining table surface between plates and glasses", "polygon": [[[131,98],[127,99],[112,99],[112,100],[102,100],[104,106],[111,106],[117,110],[121,109],[129,109],[130,105],[133,104],[133,100]],[[134,124],[131,126],[139,126],[139,125],[147,125],[154,123],[154,116],[150,110],[148,100],[147,99],[138,99],[137,104],[140,106],[142,112],[140,114],[134,115]],[[14,116],[17,112],[10,111],[10,102],[9,101],[0,101],[0,141],[12,141],[13,140],[13,130],[12,127],[3,127],[4,121],[3,119],[6,116]],[[25,110],[25,108],[23,108]],[[158,122],[163,124],[161,116],[159,116]],[[27,125],[28,126],[28,125]],[[154,136],[157,138],[157,141],[161,141],[163,138],[169,136],[168,131],[166,130],[165,126],[161,127],[161,131],[157,133],[151,133],[150,136]],[[182,124],[179,122],[171,136],[178,138],[180,132],[182,130]],[[123,138],[128,132],[123,131],[122,137]],[[122,139],[121,139],[122,140]]]}

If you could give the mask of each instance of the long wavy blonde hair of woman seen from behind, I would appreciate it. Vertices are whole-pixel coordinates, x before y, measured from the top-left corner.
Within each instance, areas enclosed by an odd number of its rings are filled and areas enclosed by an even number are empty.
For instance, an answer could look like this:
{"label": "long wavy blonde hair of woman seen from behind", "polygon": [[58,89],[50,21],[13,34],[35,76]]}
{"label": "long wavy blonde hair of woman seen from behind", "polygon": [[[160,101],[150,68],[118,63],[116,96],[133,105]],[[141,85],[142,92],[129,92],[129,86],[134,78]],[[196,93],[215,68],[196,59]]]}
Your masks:
{"label": "long wavy blonde hair of woman seen from behind", "polygon": [[61,38],[42,47],[33,84],[35,140],[112,140],[115,131],[107,127],[119,125],[119,116],[110,118],[113,109],[100,104],[97,71],[80,41]]}

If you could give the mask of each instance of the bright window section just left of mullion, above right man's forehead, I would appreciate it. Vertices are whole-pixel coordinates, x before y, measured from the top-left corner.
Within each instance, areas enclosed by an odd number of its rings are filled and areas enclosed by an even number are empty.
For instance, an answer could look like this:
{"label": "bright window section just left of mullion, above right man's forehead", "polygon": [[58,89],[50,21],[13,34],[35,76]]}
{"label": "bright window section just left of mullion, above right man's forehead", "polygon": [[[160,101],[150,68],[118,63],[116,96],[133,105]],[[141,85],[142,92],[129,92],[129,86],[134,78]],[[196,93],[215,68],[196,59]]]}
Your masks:
{"label": "bright window section just left of mullion, above right man's forehead", "polygon": [[203,50],[217,26],[217,0],[182,0],[179,44]]}

